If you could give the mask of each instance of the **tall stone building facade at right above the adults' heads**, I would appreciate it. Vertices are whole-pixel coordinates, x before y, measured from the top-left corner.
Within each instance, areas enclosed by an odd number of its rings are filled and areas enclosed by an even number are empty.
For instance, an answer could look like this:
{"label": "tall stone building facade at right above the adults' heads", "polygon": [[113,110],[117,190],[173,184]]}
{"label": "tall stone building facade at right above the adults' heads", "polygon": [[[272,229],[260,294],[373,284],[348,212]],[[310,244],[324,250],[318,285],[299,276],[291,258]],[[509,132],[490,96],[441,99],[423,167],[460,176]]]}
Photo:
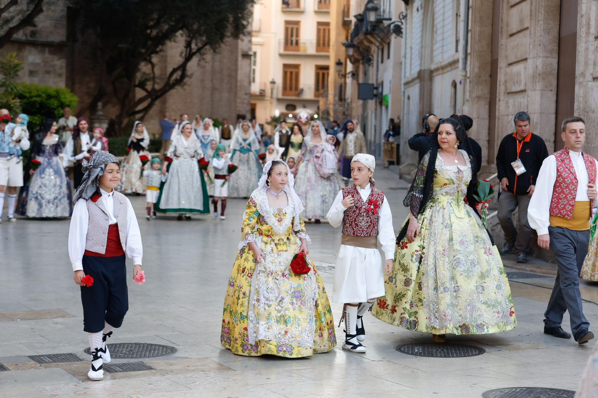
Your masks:
{"label": "tall stone building facade at right above the adults' heads", "polygon": [[[529,113],[549,151],[562,148],[560,124],[575,114],[586,120],[588,153],[598,155],[598,1],[404,2],[402,142],[422,131],[425,114],[469,115],[490,175],[515,113]],[[417,154],[401,147],[408,174]]]}

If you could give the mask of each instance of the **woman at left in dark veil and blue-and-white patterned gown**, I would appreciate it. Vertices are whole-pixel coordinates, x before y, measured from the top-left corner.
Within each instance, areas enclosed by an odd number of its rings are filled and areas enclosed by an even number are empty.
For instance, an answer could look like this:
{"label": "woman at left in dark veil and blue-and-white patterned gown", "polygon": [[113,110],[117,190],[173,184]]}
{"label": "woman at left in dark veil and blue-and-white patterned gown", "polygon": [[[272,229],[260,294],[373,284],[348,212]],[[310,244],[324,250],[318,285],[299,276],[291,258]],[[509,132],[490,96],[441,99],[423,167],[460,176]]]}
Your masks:
{"label": "woman at left in dark veil and blue-and-white patterned gown", "polygon": [[[31,218],[65,218],[71,216],[71,183],[65,172],[60,136],[56,121],[46,119],[35,134],[25,178],[21,188],[17,212]],[[41,162],[38,169],[30,169],[31,161]]]}

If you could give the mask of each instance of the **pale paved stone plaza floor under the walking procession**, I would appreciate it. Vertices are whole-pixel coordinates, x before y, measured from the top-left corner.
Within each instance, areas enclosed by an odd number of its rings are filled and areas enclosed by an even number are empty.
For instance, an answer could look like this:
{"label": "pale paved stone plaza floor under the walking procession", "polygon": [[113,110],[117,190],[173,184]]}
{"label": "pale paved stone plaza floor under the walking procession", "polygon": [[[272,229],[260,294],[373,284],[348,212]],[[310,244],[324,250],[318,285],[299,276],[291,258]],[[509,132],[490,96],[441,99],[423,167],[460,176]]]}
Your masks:
{"label": "pale paved stone plaza floor under the walking procession", "polygon": [[[407,215],[406,185],[379,169],[382,188],[394,212],[395,231]],[[145,198],[130,197],[144,240],[147,282],[129,282],[129,313],[109,344],[141,342],[176,348],[172,356],[143,361],[152,370],[108,373],[87,379],[89,347],[83,332],[79,287],[72,280],[67,252],[69,221],[19,219],[0,225],[1,397],[481,397],[501,387],[554,387],[575,390],[594,341],[579,347],[573,339],[544,335],[542,319],[554,276],[512,274],[518,327],[496,335],[453,337],[482,347],[468,358],[426,358],[395,350],[431,336],[379,322],[370,314],[367,354],[340,349],[305,359],[236,356],[220,346],[224,292],[237,252],[244,200],[229,200],[227,219],[175,216],[145,220]],[[316,267],[331,291],[340,231],[327,223],[308,224]],[[504,259],[515,266],[514,258]],[[130,261],[129,267],[132,267]],[[533,267],[533,265],[531,266]],[[532,269],[532,268],[529,269]],[[131,268],[129,269],[131,271]],[[525,269],[524,269],[525,271]],[[536,285],[536,286],[532,286]],[[598,286],[582,282],[582,296],[598,301]],[[341,306],[333,305],[335,322]],[[598,329],[598,305],[584,303]],[[343,326],[337,327],[343,341]],[[566,316],[563,329],[570,332]],[[40,365],[28,356],[74,353],[77,362]],[[2,366],[0,366],[2,368]],[[1,370],[1,369],[0,369]]]}

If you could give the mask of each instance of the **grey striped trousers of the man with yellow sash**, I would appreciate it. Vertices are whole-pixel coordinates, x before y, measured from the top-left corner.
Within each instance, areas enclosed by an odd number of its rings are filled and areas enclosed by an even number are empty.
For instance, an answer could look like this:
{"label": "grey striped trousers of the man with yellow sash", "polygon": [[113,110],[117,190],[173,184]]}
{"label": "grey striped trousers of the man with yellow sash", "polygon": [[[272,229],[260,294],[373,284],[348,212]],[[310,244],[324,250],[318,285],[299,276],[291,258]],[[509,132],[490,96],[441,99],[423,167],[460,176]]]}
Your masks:
{"label": "grey striped trousers of the man with yellow sash", "polygon": [[581,293],[579,292],[579,273],[588,253],[590,229],[573,231],[559,226],[549,226],[550,248],[557,259],[557,277],[548,307],[544,313],[547,327],[560,326],[563,314],[569,311],[571,331],[577,340],[580,330],[588,329],[590,322],[585,318]]}

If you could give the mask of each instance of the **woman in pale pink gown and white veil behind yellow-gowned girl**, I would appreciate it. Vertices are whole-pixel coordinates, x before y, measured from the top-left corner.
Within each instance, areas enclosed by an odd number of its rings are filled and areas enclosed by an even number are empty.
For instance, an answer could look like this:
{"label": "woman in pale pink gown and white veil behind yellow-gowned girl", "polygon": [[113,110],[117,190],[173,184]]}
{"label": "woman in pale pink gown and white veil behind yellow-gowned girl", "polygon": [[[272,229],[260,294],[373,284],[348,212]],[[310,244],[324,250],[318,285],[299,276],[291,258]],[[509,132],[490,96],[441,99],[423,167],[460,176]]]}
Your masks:
{"label": "woman in pale pink gown and white veil behind yellow-gowned girl", "polygon": [[296,190],[305,206],[303,217],[315,219],[316,224],[320,224],[326,217],[339,189],[336,175],[319,170],[319,163],[316,163],[315,153],[325,145],[328,144],[324,124],[313,121],[303,140],[301,155],[297,159]]}

